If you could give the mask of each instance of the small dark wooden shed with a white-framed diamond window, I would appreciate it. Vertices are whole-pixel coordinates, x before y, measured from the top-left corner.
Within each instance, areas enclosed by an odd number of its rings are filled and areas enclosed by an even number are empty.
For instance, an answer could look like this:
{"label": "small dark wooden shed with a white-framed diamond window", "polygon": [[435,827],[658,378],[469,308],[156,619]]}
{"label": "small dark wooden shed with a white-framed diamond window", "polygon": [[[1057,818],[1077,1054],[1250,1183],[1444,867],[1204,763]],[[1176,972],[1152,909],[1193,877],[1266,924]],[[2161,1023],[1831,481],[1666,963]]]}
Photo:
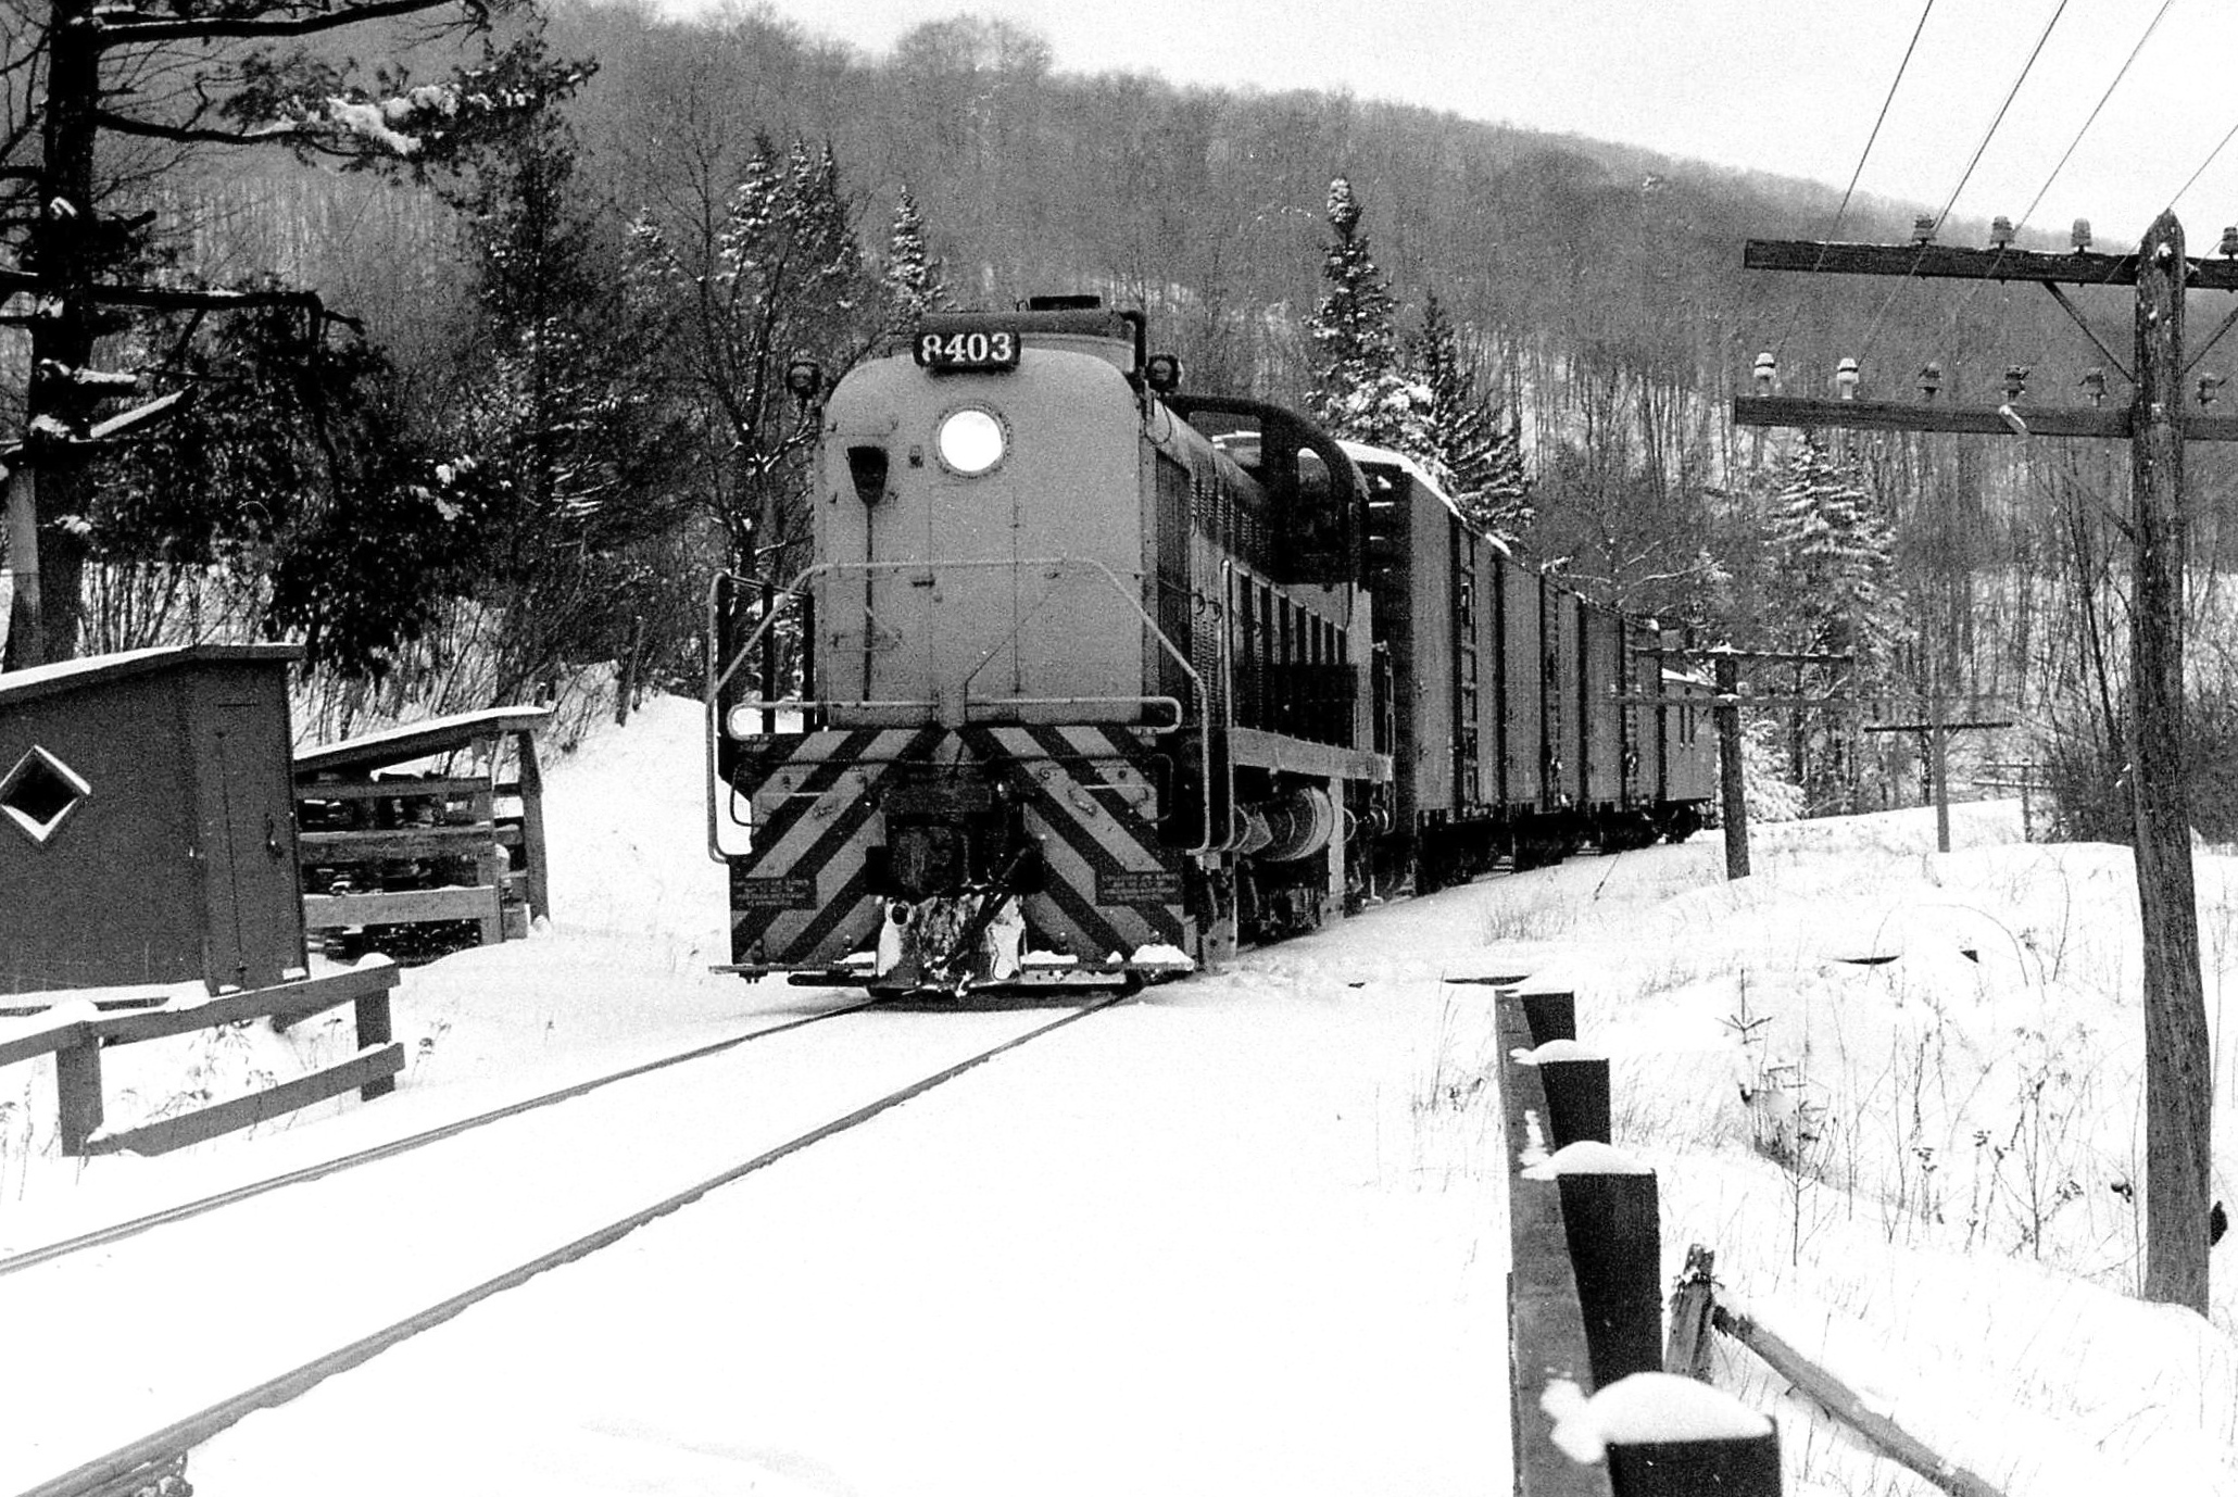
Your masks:
{"label": "small dark wooden shed with a white-framed diamond window", "polygon": [[0,994],[304,971],[293,644],[0,676]]}

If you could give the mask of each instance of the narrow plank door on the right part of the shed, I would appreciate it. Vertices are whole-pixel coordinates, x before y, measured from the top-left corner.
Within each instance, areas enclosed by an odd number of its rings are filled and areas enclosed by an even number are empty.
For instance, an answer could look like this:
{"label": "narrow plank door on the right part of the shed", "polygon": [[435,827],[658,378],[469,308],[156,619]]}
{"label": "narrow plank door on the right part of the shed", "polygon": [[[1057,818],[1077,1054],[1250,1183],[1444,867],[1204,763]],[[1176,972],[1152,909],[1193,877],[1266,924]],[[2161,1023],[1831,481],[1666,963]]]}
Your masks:
{"label": "narrow plank door on the right part of the shed", "polygon": [[302,967],[302,895],[289,745],[269,700],[217,700],[204,734],[201,855],[213,985],[266,987]]}

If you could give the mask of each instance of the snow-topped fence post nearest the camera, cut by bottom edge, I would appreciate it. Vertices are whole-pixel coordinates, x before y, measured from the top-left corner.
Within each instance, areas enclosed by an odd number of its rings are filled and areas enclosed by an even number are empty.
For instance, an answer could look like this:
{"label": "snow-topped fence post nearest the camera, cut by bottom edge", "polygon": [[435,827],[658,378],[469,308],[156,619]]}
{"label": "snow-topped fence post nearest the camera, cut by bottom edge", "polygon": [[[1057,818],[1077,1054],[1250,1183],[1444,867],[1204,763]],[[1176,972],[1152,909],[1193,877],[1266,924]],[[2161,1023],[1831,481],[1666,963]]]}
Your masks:
{"label": "snow-topped fence post nearest the camera, cut by bottom edge", "polygon": [[1779,1430],[1766,1414],[1705,1383],[1638,1372],[1587,1399],[1546,1394],[1553,1441],[1609,1466],[1616,1497],[1779,1497]]}

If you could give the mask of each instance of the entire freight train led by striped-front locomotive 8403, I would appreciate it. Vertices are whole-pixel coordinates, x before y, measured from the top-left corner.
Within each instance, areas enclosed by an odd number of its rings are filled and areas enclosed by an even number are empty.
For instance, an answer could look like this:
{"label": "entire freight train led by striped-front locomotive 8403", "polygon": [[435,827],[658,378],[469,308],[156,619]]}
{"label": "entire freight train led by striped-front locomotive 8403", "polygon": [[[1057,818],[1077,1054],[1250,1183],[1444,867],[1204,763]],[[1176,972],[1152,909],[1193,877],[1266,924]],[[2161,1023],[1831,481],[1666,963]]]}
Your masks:
{"label": "entire freight train led by striped-front locomotive 8403", "polygon": [[833,387],[812,564],[709,595],[730,971],[1130,985],[1699,823],[1652,624],[1177,376],[1139,313],[1036,298]]}

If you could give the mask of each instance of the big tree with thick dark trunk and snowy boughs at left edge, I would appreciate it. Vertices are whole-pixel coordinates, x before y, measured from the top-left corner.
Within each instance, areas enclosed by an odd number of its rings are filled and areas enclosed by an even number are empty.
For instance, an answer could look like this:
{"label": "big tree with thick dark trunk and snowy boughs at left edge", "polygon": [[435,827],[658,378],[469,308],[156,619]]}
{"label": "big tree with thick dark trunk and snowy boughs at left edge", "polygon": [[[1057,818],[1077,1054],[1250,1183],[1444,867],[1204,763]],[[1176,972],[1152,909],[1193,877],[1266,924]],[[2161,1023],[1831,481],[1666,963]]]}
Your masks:
{"label": "big tree with thick dark trunk and snowy boughs at left edge", "polygon": [[[9,669],[78,651],[87,542],[105,503],[92,477],[98,445],[157,430],[188,389],[179,369],[159,363],[98,367],[96,351],[114,347],[105,336],[134,324],[145,331],[145,313],[325,316],[304,291],[219,289],[172,271],[179,246],[159,242],[159,213],[134,210],[145,208],[139,192],[150,175],[188,152],[237,145],[425,177],[589,76],[586,65],[499,45],[497,22],[510,9],[486,0],[11,7],[0,27],[0,72],[11,78],[0,96],[0,251],[13,266],[9,291],[31,293],[43,311],[29,320],[22,443],[9,463],[11,533],[34,553],[13,559],[22,582],[11,602]],[[425,16],[434,34],[479,40],[479,65],[439,81],[380,65],[363,78],[356,63],[307,45],[410,16]],[[325,322],[316,331],[327,331]],[[293,342],[316,360],[316,336]],[[119,398],[141,405],[105,414]]]}

